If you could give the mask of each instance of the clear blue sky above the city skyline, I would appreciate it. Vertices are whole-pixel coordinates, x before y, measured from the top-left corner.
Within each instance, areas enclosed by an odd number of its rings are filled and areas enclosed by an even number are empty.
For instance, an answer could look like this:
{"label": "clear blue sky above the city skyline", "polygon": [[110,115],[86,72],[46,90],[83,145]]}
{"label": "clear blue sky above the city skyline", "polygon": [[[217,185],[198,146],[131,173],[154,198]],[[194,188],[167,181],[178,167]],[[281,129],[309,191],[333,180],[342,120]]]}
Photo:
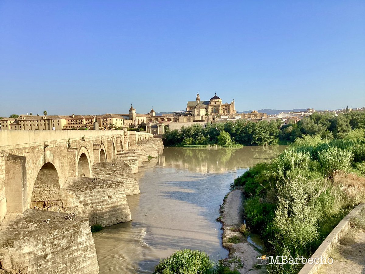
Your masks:
{"label": "clear blue sky above the city skyline", "polygon": [[365,106],[365,1],[0,1],[0,116]]}

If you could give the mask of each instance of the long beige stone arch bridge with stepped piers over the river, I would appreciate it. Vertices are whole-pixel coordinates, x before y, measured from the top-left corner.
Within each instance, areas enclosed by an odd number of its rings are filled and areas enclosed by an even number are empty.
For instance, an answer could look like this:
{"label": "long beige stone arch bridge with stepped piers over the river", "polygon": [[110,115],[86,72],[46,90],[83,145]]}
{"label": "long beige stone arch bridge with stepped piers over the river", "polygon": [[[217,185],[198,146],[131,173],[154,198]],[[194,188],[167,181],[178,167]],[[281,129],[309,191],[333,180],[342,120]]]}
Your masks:
{"label": "long beige stone arch bridge with stepped piers over the river", "polygon": [[98,273],[90,225],[131,220],[133,173],[162,150],[134,131],[1,131],[0,273]]}

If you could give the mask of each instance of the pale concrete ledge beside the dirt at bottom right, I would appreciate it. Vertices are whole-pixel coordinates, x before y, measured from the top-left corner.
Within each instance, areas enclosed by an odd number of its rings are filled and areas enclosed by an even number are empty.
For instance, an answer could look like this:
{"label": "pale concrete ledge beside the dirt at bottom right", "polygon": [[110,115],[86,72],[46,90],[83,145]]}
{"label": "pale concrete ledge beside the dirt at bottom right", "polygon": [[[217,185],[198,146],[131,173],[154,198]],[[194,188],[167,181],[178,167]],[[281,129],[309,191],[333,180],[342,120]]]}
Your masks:
{"label": "pale concrete ledge beside the dirt at bottom right", "polygon": [[[318,247],[318,249],[314,252],[314,254],[311,256],[311,258],[327,258],[328,254],[331,252],[334,244],[338,242],[338,239],[346,233],[347,229],[350,227],[350,219],[352,217],[355,217],[358,212],[365,208],[365,203],[360,203],[356,208],[351,210],[349,214],[346,215],[345,218],[342,219],[341,222],[338,223],[338,225],[331,231],[330,234],[324,239],[323,243]],[[299,271],[299,274],[314,274],[316,273],[319,268],[321,267],[321,264],[308,264],[306,263],[303,268]]]}

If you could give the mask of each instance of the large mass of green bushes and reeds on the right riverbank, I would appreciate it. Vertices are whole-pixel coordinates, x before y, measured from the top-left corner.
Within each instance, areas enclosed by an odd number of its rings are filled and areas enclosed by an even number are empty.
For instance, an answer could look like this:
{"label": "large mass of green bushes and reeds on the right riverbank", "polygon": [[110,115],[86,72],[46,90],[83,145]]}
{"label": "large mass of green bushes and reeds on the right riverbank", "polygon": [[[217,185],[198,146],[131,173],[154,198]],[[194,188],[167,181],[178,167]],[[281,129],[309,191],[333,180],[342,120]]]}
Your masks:
{"label": "large mass of green bushes and reeds on the right riverbank", "polygon": [[[365,200],[365,179],[349,174],[364,172],[365,141],[351,134],[342,140],[297,139],[271,163],[257,164],[235,179],[235,186],[245,186],[246,224],[262,236],[268,254],[308,258]],[[286,264],[270,271],[300,268]]]}

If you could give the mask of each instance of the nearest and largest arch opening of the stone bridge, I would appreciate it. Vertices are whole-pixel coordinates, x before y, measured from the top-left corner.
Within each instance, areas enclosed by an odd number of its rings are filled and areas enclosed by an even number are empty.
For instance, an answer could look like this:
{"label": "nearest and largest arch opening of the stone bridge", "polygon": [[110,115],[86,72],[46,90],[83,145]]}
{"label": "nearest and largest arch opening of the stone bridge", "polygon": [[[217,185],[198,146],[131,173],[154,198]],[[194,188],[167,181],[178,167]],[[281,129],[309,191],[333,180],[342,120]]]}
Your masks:
{"label": "nearest and largest arch opening of the stone bridge", "polygon": [[34,182],[30,208],[58,211],[62,206],[58,173],[51,163],[45,163]]}

